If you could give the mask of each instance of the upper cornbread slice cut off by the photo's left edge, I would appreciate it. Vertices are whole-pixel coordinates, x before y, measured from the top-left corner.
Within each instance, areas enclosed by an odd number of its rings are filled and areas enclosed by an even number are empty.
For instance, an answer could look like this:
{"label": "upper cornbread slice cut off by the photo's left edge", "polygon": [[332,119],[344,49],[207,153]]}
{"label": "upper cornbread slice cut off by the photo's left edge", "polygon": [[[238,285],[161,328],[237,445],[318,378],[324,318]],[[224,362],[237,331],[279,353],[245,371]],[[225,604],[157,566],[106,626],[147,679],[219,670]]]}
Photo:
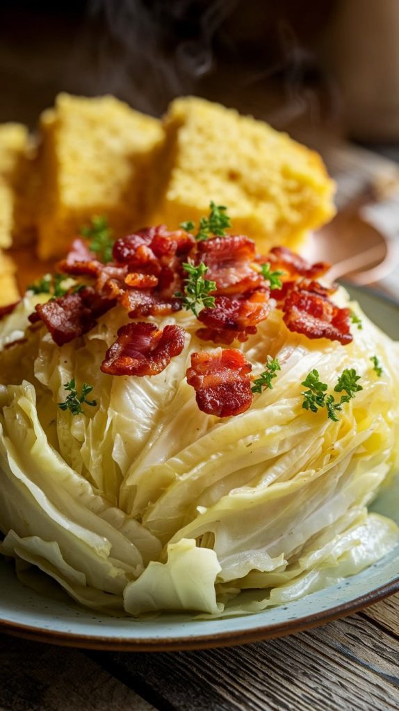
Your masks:
{"label": "upper cornbread slice cut off by the photo's left edge", "polygon": [[0,124],[0,247],[31,241],[36,199],[31,197],[33,156],[28,129]]}

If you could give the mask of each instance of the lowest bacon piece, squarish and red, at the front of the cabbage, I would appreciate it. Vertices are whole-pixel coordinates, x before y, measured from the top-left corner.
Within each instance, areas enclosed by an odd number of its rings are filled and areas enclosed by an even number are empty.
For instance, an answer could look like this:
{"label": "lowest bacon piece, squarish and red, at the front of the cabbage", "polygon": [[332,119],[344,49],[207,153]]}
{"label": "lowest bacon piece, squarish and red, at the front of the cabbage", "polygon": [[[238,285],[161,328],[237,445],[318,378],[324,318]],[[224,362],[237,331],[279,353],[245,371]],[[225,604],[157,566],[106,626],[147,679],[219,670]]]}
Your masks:
{"label": "lowest bacon piece, squarish and red, at the front of the cabbage", "polygon": [[191,355],[187,383],[196,390],[202,412],[217,417],[240,415],[252,403],[252,365],[234,348],[215,348]]}

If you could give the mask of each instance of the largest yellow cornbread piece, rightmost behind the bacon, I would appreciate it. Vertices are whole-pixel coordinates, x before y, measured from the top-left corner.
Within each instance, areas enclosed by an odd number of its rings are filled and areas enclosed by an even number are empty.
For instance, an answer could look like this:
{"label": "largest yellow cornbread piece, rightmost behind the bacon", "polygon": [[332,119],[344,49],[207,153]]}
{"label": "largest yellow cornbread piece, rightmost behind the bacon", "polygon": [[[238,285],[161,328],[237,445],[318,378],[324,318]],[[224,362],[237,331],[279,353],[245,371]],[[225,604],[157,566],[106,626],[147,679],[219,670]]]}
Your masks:
{"label": "largest yellow cornbread piece, rightmost behind the bacon", "polygon": [[334,181],[319,154],[268,124],[197,97],[174,100],[164,117],[152,223],[175,228],[228,206],[233,232],[258,247],[293,246],[335,213]]}

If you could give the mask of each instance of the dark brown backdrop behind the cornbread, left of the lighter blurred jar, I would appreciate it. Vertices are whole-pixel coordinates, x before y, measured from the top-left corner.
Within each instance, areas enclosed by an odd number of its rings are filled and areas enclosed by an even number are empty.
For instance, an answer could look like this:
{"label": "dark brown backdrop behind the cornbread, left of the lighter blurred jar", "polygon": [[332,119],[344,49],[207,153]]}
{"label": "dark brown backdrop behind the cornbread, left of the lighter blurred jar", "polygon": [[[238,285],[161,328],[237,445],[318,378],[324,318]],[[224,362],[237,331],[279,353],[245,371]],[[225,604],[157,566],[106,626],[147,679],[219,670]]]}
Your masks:
{"label": "dark brown backdrop behind the cornbread, left of the lighter blurred jar", "polygon": [[60,90],[159,115],[195,93],[270,119],[336,118],[316,45],[334,0],[89,0],[0,5],[0,120],[32,126]]}

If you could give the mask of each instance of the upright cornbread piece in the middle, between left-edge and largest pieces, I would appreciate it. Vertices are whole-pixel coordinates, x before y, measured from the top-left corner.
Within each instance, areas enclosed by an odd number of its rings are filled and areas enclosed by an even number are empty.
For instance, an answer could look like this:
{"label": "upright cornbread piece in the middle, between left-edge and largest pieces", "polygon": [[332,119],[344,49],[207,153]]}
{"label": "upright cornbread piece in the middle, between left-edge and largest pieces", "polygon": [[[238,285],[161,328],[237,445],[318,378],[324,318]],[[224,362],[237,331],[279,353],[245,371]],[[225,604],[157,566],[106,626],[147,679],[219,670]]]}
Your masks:
{"label": "upright cornbread piece in the middle, between left-edge and largest pieces", "polygon": [[41,259],[62,256],[92,215],[107,215],[115,236],[143,226],[145,176],[164,139],[157,119],[111,96],[60,94],[41,132]]}

